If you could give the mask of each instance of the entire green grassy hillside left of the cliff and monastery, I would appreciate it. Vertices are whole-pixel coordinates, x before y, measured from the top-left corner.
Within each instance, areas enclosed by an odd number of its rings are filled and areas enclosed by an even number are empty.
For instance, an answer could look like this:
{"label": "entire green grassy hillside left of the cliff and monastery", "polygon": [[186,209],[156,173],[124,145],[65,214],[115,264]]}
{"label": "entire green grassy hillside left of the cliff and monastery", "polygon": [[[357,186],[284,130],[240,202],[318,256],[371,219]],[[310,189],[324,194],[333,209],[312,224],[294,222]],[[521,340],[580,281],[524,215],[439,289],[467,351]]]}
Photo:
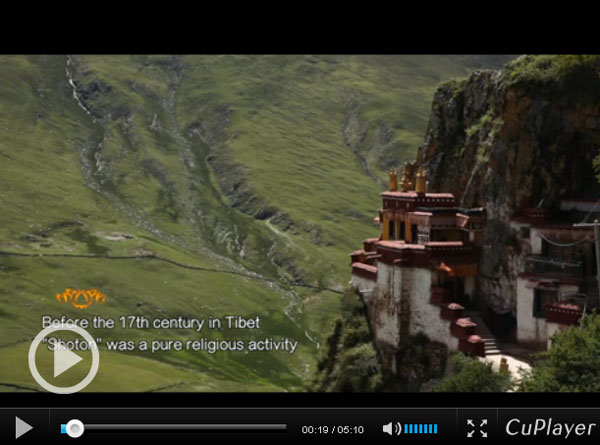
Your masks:
{"label": "entire green grassy hillside left of the cliff and monastery", "polygon": [[[414,157],[435,86],[508,59],[2,56],[0,390],[37,387],[29,341],[62,314],[259,315],[250,336],[300,342],[293,355],[104,352],[90,391],[303,390],[348,253],[376,233],[385,171]],[[60,305],[67,287],[108,301]]]}

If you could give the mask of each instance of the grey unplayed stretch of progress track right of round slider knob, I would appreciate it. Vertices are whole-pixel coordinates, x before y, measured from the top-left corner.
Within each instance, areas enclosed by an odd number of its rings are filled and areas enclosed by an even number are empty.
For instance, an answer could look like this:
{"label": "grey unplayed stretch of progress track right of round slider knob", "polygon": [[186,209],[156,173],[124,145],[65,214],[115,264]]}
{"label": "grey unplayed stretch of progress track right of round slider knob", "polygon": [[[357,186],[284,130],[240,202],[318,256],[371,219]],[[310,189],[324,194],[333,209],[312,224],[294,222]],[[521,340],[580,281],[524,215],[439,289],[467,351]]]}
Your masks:
{"label": "grey unplayed stretch of progress track right of round slider knob", "polygon": [[286,431],[285,423],[86,423],[86,430],[206,430],[206,431]]}

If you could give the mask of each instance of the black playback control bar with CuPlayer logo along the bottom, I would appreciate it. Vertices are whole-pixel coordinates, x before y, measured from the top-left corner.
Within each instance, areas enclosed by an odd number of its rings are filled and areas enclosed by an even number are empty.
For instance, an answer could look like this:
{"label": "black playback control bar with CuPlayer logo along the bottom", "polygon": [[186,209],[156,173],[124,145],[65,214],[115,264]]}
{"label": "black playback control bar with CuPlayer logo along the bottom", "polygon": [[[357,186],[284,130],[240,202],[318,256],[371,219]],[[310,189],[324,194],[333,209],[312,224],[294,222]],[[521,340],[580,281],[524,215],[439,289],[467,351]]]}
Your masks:
{"label": "black playback control bar with CuPlayer logo along the bottom", "polygon": [[600,442],[600,408],[19,407],[0,408],[0,424],[2,444]]}

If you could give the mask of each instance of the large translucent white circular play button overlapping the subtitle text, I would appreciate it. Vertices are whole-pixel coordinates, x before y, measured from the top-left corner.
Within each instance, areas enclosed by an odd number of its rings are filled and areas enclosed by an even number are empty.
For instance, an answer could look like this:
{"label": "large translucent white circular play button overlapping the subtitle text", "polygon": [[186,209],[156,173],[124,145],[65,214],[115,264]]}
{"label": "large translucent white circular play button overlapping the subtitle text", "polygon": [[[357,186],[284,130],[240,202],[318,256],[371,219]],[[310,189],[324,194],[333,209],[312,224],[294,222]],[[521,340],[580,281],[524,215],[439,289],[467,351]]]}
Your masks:
{"label": "large translucent white circular play button overlapping the subtitle text", "polygon": [[[50,335],[56,331],[70,331],[70,332],[74,332],[77,335],[80,335],[88,343],[88,345],[89,345],[88,349],[92,353],[92,365],[90,367],[90,370],[89,370],[88,374],[85,376],[85,378],[83,380],[81,380],[79,383],[77,383],[76,385],[66,386],[66,387],[53,385],[53,384],[49,383],[47,380],[45,380],[38,371],[36,361],[35,361],[36,351],[37,351],[40,343],[42,343],[42,341],[48,335]],[[72,369],[73,367],[77,366],[78,363],[83,360],[75,352],[65,348],[64,345],[63,346],[57,345],[55,347],[53,359],[54,359],[54,378],[57,378],[61,374],[65,373],[68,370]],[[40,331],[40,333],[38,335],[35,336],[35,338],[31,342],[31,346],[29,347],[29,371],[31,372],[31,375],[33,376],[35,381],[42,388],[44,388],[47,391],[56,393],[56,394],[72,394],[74,392],[78,392],[78,391],[81,391],[82,389],[84,389],[87,385],[89,385],[92,382],[92,380],[94,380],[94,377],[96,376],[96,373],[98,372],[99,364],[100,364],[100,354],[98,353],[98,345],[96,344],[96,342],[94,341],[92,336],[85,329],[83,329],[80,326],[73,325],[73,324],[60,323],[60,324],[55,324],[55,325],[52,325],[52,326],[49,326],[49,327],[43,329],[42,331]],[[79,365],[79,366],[83,366],[83,365]]]}

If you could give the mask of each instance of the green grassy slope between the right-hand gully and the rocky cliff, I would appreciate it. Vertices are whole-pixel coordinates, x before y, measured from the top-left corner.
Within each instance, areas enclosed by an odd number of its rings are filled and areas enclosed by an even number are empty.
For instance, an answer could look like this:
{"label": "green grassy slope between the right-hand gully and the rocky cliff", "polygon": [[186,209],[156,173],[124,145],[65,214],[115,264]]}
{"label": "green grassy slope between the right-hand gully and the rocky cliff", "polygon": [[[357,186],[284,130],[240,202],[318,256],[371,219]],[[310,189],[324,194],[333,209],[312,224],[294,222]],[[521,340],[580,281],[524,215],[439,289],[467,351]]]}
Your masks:
{"label": "green grassy slope between the right-hand gully and the rocky cliff", "polygon": [[478,59],[194,58],[177,93],[180,125],[211,145],[233,205],[305,235],[300,269],[335,285],[349,249],[373,233],[385,171],[414,158],[433,88],[469,61]]}

